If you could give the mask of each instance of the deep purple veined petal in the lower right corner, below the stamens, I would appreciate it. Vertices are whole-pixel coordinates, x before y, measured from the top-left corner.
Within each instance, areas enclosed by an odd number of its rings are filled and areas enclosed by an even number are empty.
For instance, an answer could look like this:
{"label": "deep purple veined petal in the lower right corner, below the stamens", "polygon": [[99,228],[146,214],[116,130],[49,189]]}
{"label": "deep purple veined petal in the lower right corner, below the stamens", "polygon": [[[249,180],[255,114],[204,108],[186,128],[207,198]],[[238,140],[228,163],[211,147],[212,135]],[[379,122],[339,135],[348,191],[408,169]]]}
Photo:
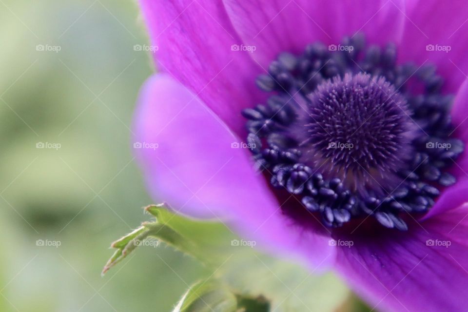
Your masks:
{"label": "deep purple veined petal in the lower right corner, below the stamens", "polygon": [[410,232],[356,238],[338,251],[338,268],[377,311],[468,310],[468,206]]}

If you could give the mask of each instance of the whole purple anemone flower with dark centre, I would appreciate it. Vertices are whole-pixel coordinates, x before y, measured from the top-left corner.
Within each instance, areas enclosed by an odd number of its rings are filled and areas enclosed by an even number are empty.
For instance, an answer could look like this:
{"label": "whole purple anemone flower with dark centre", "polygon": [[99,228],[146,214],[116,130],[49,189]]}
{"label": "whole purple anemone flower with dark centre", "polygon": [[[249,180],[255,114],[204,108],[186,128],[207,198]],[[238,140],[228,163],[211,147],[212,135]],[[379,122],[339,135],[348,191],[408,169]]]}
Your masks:
{"label": "whole purple anemone flower with dark centre", "polygon": [[140,6],[155,199],[334,269],[378,310],[468,310],[465,1]]}

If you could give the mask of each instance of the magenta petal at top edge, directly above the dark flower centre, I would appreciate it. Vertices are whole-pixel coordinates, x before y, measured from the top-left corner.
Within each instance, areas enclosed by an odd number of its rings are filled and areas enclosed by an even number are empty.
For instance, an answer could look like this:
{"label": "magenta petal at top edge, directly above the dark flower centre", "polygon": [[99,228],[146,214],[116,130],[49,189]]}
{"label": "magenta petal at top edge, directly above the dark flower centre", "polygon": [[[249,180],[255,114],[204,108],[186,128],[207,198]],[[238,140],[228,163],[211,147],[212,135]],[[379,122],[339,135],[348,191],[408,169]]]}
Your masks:
{"label": "magenta petal at top edge, directly above the dark flower centre", "polygon": [[224,0],[234,28],[266,67],[280,52],[300,53],[308,43],[341,42],[357,31],[371,43],[395,43],[403,33],[404,1]]}

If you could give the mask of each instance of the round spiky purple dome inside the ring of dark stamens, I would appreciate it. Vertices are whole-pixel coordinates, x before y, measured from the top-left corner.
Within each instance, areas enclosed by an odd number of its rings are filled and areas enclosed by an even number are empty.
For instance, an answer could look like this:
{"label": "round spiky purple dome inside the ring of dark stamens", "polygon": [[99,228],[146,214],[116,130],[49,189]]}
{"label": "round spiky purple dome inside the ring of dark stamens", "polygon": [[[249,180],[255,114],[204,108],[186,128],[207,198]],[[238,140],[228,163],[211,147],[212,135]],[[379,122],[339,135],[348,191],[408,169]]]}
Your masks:
{"label": "round spiky purple dome inside the ring of dark stamens", "polygon": [[385,78],[336,76],[317,86],[305,109],[296,131],[302,161],[360,193],[397,184],[416,129],[406,98]]}

